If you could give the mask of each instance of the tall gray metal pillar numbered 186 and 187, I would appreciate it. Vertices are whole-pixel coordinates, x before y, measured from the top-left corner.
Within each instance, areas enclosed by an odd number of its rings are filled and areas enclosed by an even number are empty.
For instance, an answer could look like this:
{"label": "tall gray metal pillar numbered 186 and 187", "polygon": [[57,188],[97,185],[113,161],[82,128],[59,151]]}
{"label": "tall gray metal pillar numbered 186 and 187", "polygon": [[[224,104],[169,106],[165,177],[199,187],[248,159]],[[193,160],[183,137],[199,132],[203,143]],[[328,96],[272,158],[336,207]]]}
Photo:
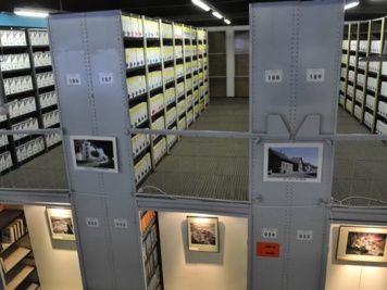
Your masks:
{"label": "tall gray metal pillar numbered 186 and 187", "polygon": [[[85,289],[145,289],[121,12],[48,22]],[[117,173],[75,169],[71,136],[114,137]]]}

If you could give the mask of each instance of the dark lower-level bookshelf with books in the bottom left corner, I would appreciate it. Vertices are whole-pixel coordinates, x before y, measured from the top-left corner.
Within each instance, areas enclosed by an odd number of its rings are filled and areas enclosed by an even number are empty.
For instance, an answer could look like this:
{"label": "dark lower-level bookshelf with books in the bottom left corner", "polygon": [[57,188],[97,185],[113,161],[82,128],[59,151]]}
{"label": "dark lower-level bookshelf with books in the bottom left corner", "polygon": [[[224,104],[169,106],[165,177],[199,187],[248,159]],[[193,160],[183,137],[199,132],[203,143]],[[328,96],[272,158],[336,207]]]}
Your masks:
{"label": "dark lower-level bookshelf with books in the bottom left corner", "polygon": [[23,211],[3,210],[0,212],[0,264],[5,289],[21,289],[22,285],[25,288],[38,286],[30,243],[29,240],[25,241],[28,239],[28,230]]}

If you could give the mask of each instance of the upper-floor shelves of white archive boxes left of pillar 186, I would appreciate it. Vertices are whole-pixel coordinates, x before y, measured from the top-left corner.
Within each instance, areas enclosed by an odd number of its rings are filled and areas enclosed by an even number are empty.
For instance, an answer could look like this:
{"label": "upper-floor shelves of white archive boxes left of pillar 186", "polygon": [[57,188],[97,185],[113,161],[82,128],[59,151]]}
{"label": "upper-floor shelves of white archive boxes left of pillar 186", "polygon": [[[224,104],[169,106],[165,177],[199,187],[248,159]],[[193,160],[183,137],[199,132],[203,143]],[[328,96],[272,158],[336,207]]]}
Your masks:
{"label": "upper-floor shelves of white archive boxes left of pillar 186", "polygon": [[[9,114],[0,129],[39,129],[59,126],[51,54],[46,29],[0,28],[1,90]],[[18,167],[61,142],[59,135],[0,137],[0,171]]]}

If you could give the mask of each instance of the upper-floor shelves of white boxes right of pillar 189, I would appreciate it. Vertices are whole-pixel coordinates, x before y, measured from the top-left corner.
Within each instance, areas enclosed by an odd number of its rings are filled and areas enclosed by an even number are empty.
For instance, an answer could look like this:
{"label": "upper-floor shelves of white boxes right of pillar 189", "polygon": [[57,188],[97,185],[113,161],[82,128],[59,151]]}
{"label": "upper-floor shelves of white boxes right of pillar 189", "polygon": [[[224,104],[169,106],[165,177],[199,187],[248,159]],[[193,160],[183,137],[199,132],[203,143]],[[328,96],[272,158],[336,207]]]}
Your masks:
{"label": "upper-floor shelves of white boxes right of pillar 189", "polygon": [[386,17],[346,23],[344,31],[339,104],[372,133],[387,135],[387,65],[360,61],[383,52]]}

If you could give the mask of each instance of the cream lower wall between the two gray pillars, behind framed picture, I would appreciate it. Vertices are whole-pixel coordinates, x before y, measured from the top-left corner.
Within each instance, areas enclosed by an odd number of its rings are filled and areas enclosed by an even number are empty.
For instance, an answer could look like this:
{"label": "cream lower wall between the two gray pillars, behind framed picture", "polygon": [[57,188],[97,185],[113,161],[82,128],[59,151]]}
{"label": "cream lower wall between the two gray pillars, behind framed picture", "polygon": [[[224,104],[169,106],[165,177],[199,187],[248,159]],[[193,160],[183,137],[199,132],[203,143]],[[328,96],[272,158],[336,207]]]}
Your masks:
{"label": "cream lower wall between the two gray pillars, behind framed picture", "polygon": [[165,289],[246,289],[247,218],[217,216],[220,252],[205,253],[188,251],[187,215],[201,216],[159,212]]}

